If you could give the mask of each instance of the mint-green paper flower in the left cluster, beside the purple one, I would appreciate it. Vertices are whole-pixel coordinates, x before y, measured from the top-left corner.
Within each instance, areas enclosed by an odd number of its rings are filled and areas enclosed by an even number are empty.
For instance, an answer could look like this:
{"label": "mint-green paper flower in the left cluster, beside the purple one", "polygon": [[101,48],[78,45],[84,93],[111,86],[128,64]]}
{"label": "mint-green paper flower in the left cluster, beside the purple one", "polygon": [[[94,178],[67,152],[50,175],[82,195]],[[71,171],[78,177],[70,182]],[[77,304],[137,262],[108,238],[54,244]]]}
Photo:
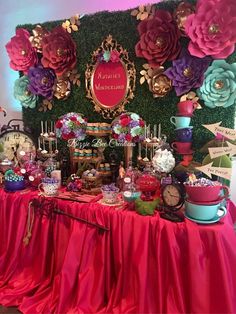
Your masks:
{"label": "mint-green paper flower in the left cluster, beside the purple one", "polygon": [[22,76],[15,81],[14,97],[21,102],[25,108],[35,108],[38,97],[29,91],[29,79]]}

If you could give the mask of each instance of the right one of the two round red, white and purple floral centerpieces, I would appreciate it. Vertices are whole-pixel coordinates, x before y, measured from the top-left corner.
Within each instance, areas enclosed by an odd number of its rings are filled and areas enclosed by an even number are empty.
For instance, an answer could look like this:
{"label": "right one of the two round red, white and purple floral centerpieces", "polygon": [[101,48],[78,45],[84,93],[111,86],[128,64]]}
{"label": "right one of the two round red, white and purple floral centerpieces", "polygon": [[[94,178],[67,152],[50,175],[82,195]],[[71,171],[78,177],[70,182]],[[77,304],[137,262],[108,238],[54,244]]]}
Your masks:
{"label": "right one of the two round red, white and purple floral centerpieces", "polygon": [[138,114],[122,113],[112,122],[112,138],[120,143],[141,142],[144,140],[144,125],[145,122]]}

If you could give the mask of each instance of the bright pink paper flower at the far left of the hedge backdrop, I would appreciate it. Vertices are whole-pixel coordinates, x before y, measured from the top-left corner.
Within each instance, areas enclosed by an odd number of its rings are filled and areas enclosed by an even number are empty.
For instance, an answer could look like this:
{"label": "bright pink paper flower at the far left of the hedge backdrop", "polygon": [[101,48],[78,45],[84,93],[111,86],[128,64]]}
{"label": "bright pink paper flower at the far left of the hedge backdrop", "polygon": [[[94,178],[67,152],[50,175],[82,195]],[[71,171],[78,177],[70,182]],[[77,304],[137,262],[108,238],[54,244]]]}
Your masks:
{"label": "bright pink paper flower at the far left of the hedge backdrop", "polygon": [[16,30],[16,35],[6,44],[10,67],[25,74],[38,62],[36,49],[31,46],[29,37],[30,34],[26,29],[19,28]]}

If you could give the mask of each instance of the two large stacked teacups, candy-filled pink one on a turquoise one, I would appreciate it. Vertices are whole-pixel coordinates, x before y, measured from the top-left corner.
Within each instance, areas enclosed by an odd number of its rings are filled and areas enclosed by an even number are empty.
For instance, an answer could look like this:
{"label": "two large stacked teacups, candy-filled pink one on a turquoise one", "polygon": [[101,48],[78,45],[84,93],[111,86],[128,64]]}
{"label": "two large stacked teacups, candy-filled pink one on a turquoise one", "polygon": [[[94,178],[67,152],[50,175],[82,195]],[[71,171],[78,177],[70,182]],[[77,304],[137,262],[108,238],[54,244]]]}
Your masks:
{"label": "two large stacked teacups, candy-filled pink one on a turquoise one", "polygon": [[198,223],[215,223],[225,216],[227,210],[223,201],[228,197],[228,187],[218,181],[205,178],[185,183],[186,218]]}

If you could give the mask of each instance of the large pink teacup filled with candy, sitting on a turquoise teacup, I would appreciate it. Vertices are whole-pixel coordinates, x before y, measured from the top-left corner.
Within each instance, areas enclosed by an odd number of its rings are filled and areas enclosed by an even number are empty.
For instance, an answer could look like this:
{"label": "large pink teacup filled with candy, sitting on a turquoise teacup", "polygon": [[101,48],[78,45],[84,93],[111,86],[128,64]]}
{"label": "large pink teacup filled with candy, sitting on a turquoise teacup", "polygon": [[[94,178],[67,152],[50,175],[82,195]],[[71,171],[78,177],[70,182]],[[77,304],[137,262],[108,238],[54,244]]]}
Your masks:
{"label": "large pink teacup filled with candy, sitting on a turquoise teacup", "polygon": [[214,202],[229,196],[227,186],[206,178],[195,178],[194,180],[190,178],[184,185],[189,200],[197,203]]}

